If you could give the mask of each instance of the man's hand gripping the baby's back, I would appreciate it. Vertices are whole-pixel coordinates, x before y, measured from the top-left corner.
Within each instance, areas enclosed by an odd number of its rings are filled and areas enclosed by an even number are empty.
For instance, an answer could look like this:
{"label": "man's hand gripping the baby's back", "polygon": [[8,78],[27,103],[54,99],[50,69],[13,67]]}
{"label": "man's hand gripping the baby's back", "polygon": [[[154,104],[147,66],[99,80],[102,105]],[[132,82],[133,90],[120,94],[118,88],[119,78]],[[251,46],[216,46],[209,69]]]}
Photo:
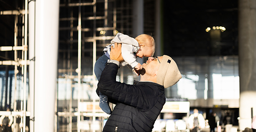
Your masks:
{"label": "man's hand gripping the baby's back", "polygon": [[114,43],[114,47],[111,46],[111,51],[109,56],[110,56],[110,59],[116,60],[118,62],[122,62],[123,61],[122,44]]}

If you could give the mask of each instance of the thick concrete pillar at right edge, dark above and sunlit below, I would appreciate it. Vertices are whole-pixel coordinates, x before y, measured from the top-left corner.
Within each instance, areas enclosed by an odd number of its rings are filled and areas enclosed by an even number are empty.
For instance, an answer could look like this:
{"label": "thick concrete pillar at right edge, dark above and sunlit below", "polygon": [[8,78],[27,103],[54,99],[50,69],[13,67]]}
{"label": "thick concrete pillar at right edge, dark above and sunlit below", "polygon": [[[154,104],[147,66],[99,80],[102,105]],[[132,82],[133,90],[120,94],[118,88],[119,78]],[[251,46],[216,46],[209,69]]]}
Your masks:
{"label": "thick concrete pillar at right edge, dark above and sunlit below", "polygon": [[256,115],[256,1],[238,1],[240,106],[239,129],[251,128]]}

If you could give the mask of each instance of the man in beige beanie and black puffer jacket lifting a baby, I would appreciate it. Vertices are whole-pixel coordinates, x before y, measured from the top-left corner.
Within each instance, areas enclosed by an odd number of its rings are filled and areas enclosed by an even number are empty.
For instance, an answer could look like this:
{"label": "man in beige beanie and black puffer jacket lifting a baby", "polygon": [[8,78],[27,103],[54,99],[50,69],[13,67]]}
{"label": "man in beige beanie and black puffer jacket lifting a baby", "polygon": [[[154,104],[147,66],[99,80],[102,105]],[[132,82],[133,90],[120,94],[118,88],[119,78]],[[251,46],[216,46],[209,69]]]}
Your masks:
{"label": "man in beige beanie and black puffer jacket lifting a baby", "polygon": [[142,64],[140,81],[128,85],[116,81],[119,63],[123,61],[121,44],[111,47],[110,60],[101,74],[97,93],[115,103],[103,131],[152,131],[165,104],[164,88],[180,80],[176,63],[169,56],[149,57]]}

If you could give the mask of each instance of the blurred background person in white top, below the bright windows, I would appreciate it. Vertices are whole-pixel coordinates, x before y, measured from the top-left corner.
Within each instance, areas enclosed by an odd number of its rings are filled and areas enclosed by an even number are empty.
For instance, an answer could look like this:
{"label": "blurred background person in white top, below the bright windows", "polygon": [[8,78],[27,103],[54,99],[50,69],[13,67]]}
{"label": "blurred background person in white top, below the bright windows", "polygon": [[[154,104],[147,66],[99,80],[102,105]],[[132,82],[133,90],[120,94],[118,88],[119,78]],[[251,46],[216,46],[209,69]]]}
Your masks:
{"label": "blurred background person in white top, below the bright windows", "polygon": [[201,131],[201,128],[205,128],[205,118],[198,113],[198,109],[194,109],[194,114],[190,115],[188,122],[191,131],[197,132]]}

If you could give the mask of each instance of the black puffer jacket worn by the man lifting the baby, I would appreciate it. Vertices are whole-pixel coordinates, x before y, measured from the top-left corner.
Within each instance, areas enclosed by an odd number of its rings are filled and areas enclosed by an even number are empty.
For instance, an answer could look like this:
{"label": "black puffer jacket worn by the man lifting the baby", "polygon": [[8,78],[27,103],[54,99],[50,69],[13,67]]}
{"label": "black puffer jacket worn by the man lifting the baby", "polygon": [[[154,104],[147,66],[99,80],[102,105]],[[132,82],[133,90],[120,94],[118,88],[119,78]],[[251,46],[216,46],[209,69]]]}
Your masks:
{"label": "black puffer jacket worn by the man lifting the baby", "polygon": [[117,64],[108,63],[98,83],[97,91],[117,101],[103,131],[152,131],[165,103],[164,87],[152,82],[117,82],[117,70]]}

